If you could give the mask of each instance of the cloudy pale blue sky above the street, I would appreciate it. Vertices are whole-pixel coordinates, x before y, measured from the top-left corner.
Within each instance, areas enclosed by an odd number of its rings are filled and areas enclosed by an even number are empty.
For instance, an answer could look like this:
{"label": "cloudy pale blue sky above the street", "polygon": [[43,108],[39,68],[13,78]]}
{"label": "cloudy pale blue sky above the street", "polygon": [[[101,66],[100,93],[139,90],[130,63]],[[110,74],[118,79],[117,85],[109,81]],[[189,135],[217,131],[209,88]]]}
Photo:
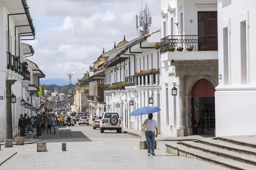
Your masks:
{"label": "cloudy pale blue sky above the street", "polygon": [[[47,82],[66,79],[73,83],[105,51],[123,40],[137,37],[135,15],[141,0],[27,0],[36,28],[31,44],[33,62],[46,74]],[[143,0],[151,11],[151,32],[160,29],[160,0]]]}

